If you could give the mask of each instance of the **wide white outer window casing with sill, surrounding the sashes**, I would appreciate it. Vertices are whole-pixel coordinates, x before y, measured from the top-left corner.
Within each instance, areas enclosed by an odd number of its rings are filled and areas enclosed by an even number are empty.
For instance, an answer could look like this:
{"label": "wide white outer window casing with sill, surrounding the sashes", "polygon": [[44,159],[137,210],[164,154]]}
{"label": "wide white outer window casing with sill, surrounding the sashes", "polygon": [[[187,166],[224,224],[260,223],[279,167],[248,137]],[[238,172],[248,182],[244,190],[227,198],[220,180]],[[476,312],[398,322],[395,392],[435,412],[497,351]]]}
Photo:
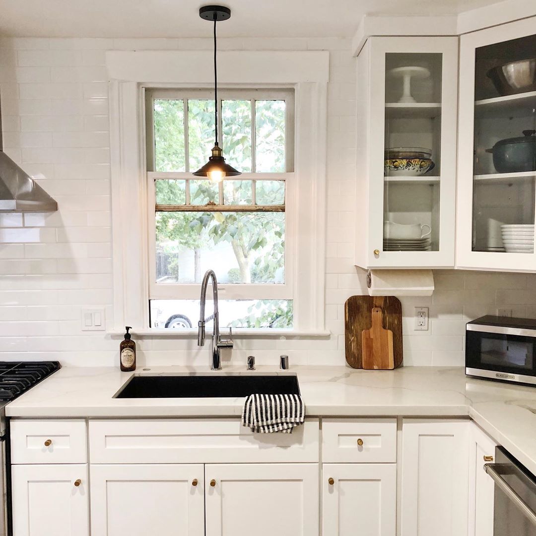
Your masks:
{"label": "wide white outer window casing with sill, surrounding the sashes", "polygon": [[[326,336],[324,328],[327,51],[222,51],[219,81],[226,88],[294,88],[295,145],[291,180],[292,329],[237,329],[237,336]],[[154,211],[146,173],[145,88],[210,89],[210,51],[107,51],[114,304],[112,333],[125,323],[138,335],[193,337],[195,330],[149,327],[148,211]],[[244,177],[246,178],[246,177]],[[292,220],[292,222],[291,222]],[[227,285],[225,285],[227,286]],[[223,290],[225,286],[220,286]],[[273,287],[268,297],[274,297]],[[234,296],[233,296],[234,297]],[[225,290],[221,294],[225,299]],[[181,296],[184,299],[184,296]]]}

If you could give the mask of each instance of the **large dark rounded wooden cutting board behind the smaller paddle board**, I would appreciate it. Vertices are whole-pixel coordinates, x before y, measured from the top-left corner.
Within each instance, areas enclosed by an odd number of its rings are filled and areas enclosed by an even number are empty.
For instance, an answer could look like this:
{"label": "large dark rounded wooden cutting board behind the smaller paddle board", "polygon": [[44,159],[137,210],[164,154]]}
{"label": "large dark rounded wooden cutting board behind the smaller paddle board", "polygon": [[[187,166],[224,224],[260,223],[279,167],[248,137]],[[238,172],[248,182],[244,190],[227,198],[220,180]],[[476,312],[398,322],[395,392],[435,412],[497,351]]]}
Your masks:
{"label": "large dark rounded wooden cutting board behind the smaller paddle board", "polygon": [[372,327],[372,310],[382,309],[382,327],[393,333],[393,366],[402,364],[402,306],[395,296],[351,296],[346,300],[345,343],[346,362],[352,368],[362,366],[363,330]]}

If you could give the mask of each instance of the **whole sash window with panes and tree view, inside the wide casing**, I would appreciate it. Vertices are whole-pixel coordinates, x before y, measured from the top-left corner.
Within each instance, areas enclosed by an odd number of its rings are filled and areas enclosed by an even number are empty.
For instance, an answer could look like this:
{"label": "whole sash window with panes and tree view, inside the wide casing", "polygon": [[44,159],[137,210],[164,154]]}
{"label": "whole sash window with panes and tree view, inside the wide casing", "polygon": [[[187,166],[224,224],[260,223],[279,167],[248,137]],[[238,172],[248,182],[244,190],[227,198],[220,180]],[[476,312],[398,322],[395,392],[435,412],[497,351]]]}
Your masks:
{"label": "whole sash window with panes and tree view, inside the wide casing", "polygon": [[145,91],[150,326],[191,328],[213,269],[222,326],[293,327],[294,90],[220,90],[227,162],[220,183],[192,176],[214,138],[210,90]]}

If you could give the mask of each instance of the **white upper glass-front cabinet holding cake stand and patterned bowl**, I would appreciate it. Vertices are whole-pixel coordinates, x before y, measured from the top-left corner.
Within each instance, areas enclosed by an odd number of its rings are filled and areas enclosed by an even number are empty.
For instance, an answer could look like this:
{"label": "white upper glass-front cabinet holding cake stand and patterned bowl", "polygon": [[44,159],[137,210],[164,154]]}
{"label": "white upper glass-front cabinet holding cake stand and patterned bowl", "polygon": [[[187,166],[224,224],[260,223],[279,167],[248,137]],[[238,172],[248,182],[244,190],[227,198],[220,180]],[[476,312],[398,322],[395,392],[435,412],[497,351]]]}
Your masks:
{"label": "white upper glass-front cabinet holding cake stand and patterned bowl", "polygon": [[372,37],[357,71],[355,263],[452,267],[458,38]]}

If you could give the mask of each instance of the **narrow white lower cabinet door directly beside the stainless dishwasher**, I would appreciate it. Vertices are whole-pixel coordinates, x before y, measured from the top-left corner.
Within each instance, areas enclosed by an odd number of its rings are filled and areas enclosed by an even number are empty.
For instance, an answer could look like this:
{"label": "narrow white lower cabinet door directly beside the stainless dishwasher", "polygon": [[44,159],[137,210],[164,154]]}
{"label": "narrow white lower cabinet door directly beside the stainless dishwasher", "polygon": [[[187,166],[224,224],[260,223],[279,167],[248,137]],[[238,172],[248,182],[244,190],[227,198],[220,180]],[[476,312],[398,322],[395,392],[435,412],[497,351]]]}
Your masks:
{"label": "narrow white lower cabinet door directly beside the stainless dishwasher", "polygon": [[469,434],[469,536],[493,534],[495,485],[483,470],[493,462],[497,444],[474,422]]}

